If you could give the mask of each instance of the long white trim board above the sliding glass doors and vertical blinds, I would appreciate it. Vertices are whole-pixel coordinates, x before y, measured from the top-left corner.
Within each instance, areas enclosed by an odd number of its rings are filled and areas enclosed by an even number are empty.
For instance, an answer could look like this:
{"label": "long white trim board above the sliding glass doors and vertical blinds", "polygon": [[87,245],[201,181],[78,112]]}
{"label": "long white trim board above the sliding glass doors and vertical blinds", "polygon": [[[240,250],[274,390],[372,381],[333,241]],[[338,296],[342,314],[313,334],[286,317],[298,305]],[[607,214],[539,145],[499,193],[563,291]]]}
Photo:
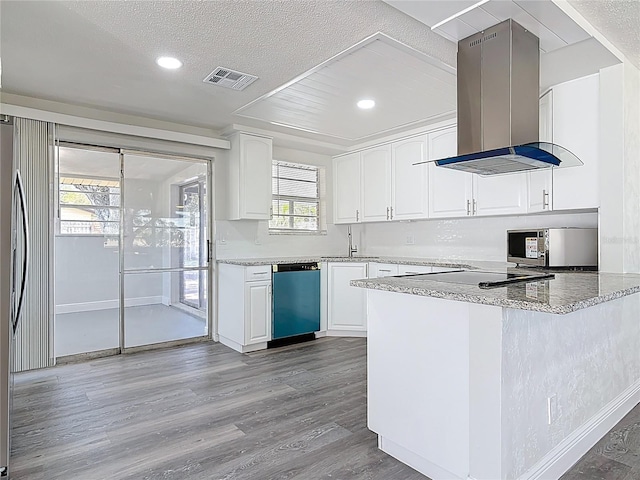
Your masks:
{"label": "long white trim board above the sliding glass doors and vertical blinds", "polygon": [[95,120],[92,118],[77,117],[75,115],[67,115],[64,113],[39,110],[36,108],[23,107],[20,105],[10,105],[8,103],[0,104],[0,112],[4,115],[31,118],[34,120],[42,120],[45,122],[69,125],[71,127],[88,128],[90,130],[100,130],[104,132],[119,133],[122,135],[134,135],[137,137],[169,140],[172,142],[202,145],[206,147],[222,148],[226,150],[229,150],[231,148],[231,143],[229,142],[229,140],[220,138],[205,137],[202,135],[175,132],[160,128],[127,125],[108,122],[105,120]]}

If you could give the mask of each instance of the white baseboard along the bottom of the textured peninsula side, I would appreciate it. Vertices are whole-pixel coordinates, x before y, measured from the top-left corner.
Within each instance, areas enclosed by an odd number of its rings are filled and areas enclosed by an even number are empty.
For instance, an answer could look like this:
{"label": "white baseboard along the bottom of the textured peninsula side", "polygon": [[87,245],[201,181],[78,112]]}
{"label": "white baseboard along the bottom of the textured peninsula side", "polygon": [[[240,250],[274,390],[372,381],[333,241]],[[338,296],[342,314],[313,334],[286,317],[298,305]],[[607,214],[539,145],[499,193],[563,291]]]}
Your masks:
{"label": "white baseboard along the bottom of the textured peninsula side", "polygon": [[560,478],[640,403],[640,379],[624,390],[540,459],[518,480]]}

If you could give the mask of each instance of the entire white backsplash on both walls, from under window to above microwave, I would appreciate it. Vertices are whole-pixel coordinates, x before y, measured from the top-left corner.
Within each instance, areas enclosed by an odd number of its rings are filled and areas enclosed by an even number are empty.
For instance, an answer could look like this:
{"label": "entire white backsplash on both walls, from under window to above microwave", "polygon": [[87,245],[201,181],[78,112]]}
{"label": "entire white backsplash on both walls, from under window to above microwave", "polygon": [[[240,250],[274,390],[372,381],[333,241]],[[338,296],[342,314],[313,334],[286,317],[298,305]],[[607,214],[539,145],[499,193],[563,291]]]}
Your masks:
{"label": "entire white backsplash on both walls, from under window to above microwave", "polygon": [[[356,256],[503,262],[507,230],[597,226],[597,212],[588,212],[366,223],[352,230]],[[328,225],[326,235],[269,235],[266,221],[219,220],[216,238],[217,258],[346,255],[347,225]]]}

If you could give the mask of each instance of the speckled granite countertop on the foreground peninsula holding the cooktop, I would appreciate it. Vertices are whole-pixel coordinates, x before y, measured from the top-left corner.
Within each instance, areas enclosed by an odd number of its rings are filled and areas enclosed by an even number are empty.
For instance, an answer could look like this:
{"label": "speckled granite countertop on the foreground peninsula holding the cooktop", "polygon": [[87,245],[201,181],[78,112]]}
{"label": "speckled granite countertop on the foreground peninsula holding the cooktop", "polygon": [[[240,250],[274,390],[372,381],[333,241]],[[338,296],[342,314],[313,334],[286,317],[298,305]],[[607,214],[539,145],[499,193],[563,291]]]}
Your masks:
{"label": "speckled granite countertop on the foreground peninsula holding the cooktop", "polygon": [[[504,272],[501,269],[492,271]],[[508,271],[521,272],[523,269],[513,268]],[[525,271],[533,273],[528,269]],[[640,275],[555,273],[555,278],[551,280],[520,282],[491,289],[428,280],[428,275],[352,280],[351,285],[519,310],[566,314],[640,292]]]}

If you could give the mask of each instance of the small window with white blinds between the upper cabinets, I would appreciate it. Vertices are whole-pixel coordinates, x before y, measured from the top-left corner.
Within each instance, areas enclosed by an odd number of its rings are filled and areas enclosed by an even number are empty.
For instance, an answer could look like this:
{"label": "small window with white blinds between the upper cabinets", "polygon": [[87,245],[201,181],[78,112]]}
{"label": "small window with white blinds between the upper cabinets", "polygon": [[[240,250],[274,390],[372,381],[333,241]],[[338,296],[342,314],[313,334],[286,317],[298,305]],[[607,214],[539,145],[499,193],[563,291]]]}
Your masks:
{"label": "small window with white blinds between the upper cabinets", "polygon": [[273,162],[271,231],[318,232],[318,167]]}

